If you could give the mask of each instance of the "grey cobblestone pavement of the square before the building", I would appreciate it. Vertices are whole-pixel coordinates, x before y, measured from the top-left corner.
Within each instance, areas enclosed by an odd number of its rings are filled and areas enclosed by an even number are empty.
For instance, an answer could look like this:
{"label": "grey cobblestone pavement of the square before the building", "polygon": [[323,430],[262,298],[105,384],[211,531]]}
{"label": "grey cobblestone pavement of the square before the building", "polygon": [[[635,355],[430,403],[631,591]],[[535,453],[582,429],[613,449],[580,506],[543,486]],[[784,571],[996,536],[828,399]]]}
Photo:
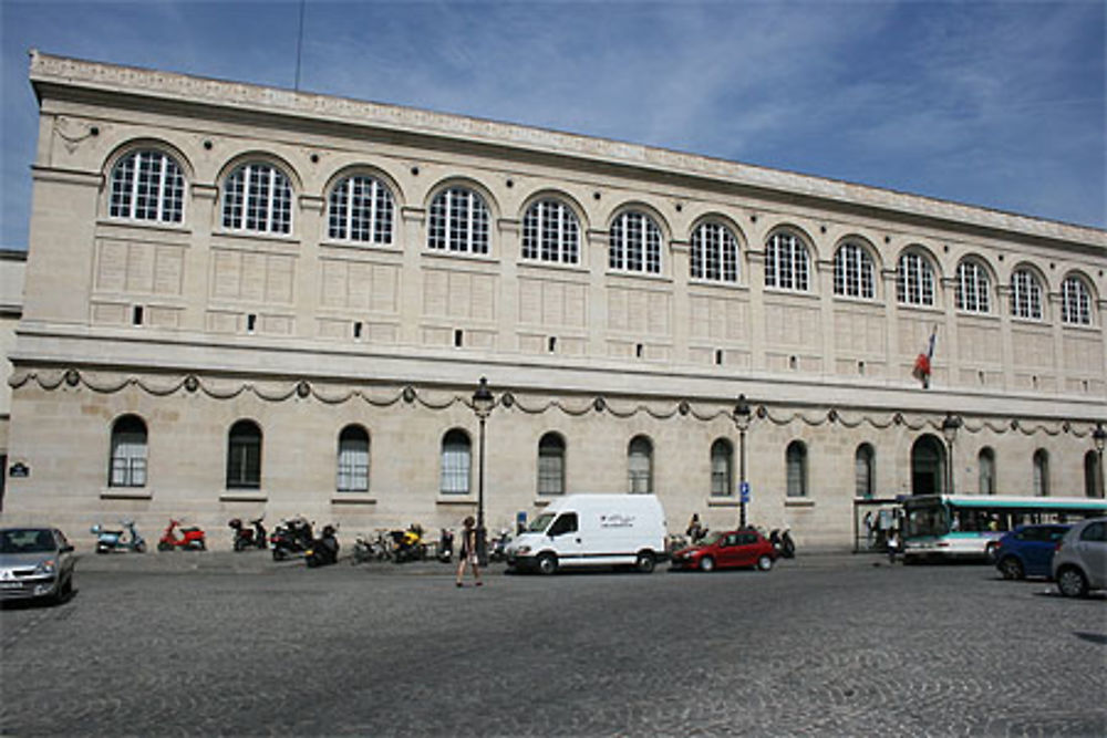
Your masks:
{"label": "grey cobblestone pavement of the square before the building", "polygon": [[0,612],[4,735],[1107,735],[1107,600],[986,567],[458,590],[438,564],[174,554],[85,555],[70,602]]}

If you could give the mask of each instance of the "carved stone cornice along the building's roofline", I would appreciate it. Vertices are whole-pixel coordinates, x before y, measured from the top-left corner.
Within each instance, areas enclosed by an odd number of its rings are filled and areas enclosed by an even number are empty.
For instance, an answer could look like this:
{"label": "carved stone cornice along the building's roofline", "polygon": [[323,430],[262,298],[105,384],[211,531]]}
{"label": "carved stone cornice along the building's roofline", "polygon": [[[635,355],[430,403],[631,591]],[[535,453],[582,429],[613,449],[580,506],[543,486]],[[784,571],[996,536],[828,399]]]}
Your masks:
{"label": "carved stone cornice along the building's roofline", "polygon": [[1007,231],[1047,240],[1107,249],[1107,231],[1017,214],[909,195],[810,175],[768,169],[724,159],[594,138],[497,121],[334,97],[307,92],[197,77],[174,72],[118,66],[31,51],[35,91],[49,85],[112,94],[207,104],[241,111],[462,139],[540,154],[558,154],[664,173],[708,178],[738,187],[800,196],[847,207],[870,207],[907,217]]}

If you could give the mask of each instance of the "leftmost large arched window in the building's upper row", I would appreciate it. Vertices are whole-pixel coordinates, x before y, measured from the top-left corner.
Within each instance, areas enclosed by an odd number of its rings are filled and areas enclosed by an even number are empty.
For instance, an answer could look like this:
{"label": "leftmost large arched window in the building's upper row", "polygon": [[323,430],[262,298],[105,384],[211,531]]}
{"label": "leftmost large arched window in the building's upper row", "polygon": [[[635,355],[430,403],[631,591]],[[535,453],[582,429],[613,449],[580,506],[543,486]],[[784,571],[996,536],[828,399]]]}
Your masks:
{"label": "leftmost large arched window in the building's upper row", "polygon": [[180,222],[185,211],[185,177],[168,154],[138,150],[112,169],[108,215],[131,220]]}

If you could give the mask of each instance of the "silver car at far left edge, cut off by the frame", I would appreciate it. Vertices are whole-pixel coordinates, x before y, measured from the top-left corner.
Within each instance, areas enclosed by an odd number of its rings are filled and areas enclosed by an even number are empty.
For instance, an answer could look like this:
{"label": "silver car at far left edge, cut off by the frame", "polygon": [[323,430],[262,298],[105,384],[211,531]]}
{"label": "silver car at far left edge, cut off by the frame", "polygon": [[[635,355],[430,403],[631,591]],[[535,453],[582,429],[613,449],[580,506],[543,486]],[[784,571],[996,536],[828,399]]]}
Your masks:
{"label": "silver car at far left edge, cut off by the frame", "polygon": [[0,528],[0,600],[61,602],[73,591],[73,547],[56,528]]}

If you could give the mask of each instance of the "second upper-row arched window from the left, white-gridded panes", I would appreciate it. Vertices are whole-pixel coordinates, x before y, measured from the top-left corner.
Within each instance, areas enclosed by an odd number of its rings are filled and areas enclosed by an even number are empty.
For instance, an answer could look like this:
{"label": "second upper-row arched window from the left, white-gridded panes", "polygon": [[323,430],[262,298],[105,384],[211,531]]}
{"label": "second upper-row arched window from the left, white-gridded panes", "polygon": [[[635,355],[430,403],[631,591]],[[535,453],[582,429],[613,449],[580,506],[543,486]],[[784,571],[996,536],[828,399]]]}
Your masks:
{"label": "second upper-row arched window from the left, white-gridded panes", "polygon": [[227,177],[223,227],[258,233],[292,231],[292,186],[284,173],[265,162],[244,164]]}

